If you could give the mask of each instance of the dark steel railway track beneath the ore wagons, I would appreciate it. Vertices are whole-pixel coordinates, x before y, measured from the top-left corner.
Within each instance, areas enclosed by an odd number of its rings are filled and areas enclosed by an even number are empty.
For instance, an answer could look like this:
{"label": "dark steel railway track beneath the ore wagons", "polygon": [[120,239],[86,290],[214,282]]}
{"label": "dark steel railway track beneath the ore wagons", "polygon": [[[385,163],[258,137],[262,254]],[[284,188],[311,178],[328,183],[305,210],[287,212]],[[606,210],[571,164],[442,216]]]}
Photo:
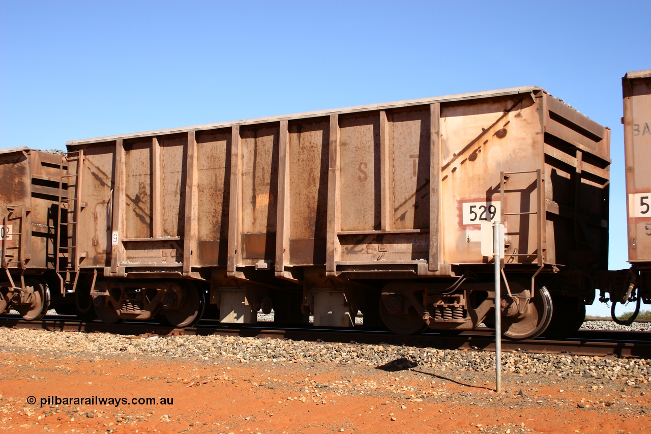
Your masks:
{"label": "dark steel railway track beneath the ore wagons", "polygon": [[[305,326],[285,328],[273,323],[258,325],[221,325],[216,321],[202,321],[191,328],[173,328],[159,323],[125,322],[108,325],[98,321],[83,322],[64,315],[46,317],[41,321],[23,321],[18,315],[0,317],[0,326],[64,332],[111,333],[135,336],[182,336],[221,335],[252,338],[290,339],[303,341],[327,341],[341,343],[363,343],[408,345],[411,347],[433,347],[437,349],[495,350],[493,330],[484,328],[462,332],[456,336],[444,336],[436,332],[424,332],[415,336],[398,336],[388,331],[327,329]],[[615,356],[626,358],[651,358],[651,332],[615,332],[611,330],[579,330],[574,337],[562,341],[536,338],[523,341],[502,341],[502,351],[530,353],[571,353],[587,356]]]}

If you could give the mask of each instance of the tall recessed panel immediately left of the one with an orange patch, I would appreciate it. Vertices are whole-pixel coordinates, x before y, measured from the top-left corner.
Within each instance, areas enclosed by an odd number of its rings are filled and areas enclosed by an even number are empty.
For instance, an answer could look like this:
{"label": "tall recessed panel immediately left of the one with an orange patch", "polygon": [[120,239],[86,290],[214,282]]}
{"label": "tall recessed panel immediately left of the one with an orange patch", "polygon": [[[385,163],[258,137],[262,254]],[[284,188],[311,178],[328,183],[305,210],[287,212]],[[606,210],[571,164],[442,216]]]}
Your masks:
{"label": "tall recessed panel immediately left of the one with an orange patch", "polygon": [[195,265],[225,265],[230,200],[230,130],[197,132],[198,258]]}

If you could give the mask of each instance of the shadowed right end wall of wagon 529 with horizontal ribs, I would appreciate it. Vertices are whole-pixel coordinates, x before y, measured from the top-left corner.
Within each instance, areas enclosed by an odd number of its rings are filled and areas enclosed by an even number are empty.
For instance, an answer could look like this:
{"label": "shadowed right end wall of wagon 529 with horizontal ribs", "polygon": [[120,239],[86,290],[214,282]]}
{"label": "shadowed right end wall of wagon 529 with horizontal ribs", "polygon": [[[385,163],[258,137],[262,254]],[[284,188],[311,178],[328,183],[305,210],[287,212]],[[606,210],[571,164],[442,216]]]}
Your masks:
{"label": "shadowed right end wall of wagon 529 with horizontal ribs", "polygon": [[549,95],[542,116],[547,262],[607,269],[610,130]]}

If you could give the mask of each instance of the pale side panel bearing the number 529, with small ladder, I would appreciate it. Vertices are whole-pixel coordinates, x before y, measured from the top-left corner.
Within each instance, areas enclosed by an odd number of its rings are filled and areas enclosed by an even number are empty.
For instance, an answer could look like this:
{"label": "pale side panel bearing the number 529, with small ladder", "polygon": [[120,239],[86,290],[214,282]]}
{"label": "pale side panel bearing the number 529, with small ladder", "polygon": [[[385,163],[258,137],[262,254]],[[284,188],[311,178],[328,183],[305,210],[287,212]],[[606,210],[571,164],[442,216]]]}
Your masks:
{"label": "pale side panel bearing the number 529, with small ladder", "polygon": [[[445,263],[487,263],[481,223],[502,220],[510,262],[534,263],[544,243],[542,93],[441,104],[441,252]],[[501,185],[500,173],[505,172]],[[542,246],[544,248],[544,246]]]}

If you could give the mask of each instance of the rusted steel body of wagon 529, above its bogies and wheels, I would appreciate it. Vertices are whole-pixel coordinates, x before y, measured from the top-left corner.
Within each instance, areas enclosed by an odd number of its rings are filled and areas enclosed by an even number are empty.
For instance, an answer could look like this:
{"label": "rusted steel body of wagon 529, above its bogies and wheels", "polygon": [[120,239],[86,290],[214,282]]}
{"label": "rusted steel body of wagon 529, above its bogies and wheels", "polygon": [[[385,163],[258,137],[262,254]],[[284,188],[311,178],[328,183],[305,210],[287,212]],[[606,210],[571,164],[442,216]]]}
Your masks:
{"label": "rusted steel body of wagon 529, above its bogies and wheels", "polygon": [[[325,263],[330,274],[443,276],[450,265],[490,261],[480,222],[499,218],[508,263],[605,257],[609,130],[537,87],[68,146],[111,153],[88,158],[108,164],[108,192],[121,195],[107,222],[118,228],[120,267],[226,265],[236,277],[261,262],[276,262],[279,273]],[[501,171],[518,172],[502,202]],[[84,263],[104,265],[103,252]]]}

